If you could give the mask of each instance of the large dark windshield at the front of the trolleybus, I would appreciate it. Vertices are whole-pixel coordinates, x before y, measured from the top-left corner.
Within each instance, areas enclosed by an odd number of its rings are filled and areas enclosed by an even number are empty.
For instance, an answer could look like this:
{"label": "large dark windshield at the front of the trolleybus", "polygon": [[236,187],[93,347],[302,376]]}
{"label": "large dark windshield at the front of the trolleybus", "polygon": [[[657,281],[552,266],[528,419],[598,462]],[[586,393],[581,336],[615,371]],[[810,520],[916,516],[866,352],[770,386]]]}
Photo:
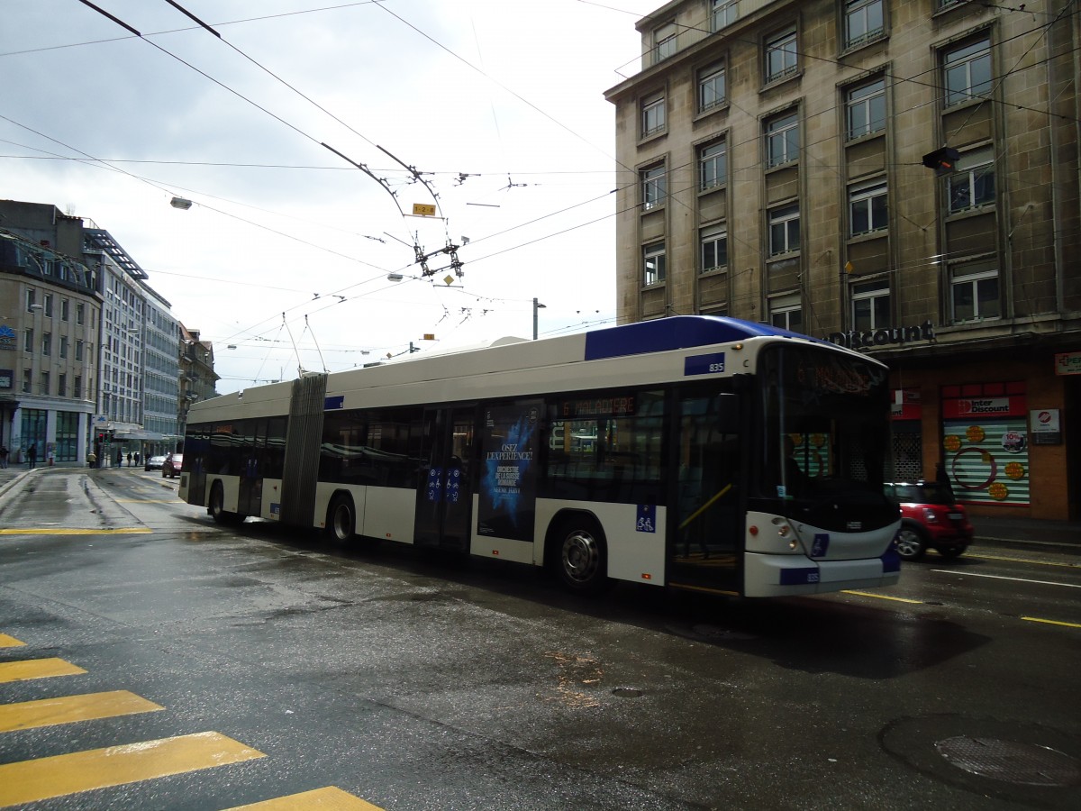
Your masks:
{"label": "large dark windshield at the front of the trolleybus", "polygon": [[[814,509],[840,501],[849,507],[882,506],[894,516],[882,484],[888,460],[886,370],[849,355],[813,346],[775,346],[762,357],[762,430],[756,475],[761,497],[782,503],[779,513],[801,513],[817,526],[842,521]],[[841,510],[844,511],[844,510]],[[822,521],[826,521],[825,523]]]}

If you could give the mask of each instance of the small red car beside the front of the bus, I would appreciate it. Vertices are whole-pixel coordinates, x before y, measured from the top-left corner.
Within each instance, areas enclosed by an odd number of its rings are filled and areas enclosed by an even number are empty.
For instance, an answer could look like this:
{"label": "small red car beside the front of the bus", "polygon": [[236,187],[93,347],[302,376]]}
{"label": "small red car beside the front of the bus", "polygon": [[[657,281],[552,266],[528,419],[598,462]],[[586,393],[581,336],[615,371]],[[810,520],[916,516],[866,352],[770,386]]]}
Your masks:
{"label": "small red car beside the front of the bus", "polygon": [[972,543],[969,514],[957,503],[949,484],[940,481],[892,482],[885,494],[900,507],[897,554],[919,560],[927,548],[956,558]]}

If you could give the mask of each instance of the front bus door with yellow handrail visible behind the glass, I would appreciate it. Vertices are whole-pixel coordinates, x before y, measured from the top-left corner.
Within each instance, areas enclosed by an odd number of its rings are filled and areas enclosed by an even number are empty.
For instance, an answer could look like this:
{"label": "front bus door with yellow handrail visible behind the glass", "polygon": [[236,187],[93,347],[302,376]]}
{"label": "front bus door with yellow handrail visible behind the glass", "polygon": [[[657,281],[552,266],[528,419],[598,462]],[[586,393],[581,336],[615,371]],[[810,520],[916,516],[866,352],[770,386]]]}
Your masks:
{"label": "front bus door with yellow handrail visible behind the glass", "polygon": [[738,402],[738,396],[716,390],[678,398],[670,585],[739,590],[744,494]]}

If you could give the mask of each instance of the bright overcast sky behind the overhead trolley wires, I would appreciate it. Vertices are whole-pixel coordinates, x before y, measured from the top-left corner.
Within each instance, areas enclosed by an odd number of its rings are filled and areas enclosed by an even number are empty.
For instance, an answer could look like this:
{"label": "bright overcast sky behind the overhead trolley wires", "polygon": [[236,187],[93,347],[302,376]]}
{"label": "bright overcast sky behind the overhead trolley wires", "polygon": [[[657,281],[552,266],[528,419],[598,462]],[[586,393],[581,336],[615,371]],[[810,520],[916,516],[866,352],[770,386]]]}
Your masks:
{"label": "bright overcast sky behind the overhead trolley wires", "polygon": [[[166,0],[94,3],[142,37],[0,0],[0,198],[108,230],[214,342],[218,391],[531,337],[534,297],[542,337],[614,322],[633,178],[603,93],[658,0],[177,4],[219,36]],[[425,277],[414,244],[449,241],[464,276]]]}

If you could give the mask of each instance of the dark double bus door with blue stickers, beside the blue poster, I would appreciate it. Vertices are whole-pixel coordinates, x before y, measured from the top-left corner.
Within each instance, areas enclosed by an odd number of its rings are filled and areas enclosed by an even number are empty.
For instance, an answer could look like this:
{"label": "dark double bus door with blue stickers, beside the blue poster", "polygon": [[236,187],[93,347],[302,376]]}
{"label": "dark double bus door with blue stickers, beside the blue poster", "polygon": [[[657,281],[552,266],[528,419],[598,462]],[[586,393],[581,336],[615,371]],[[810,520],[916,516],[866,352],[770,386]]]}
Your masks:
{"label": "dark double bus door with blue stickers, beside the blue poster", "polygon": [[473,407],[426,409],[413,542],[468,551],[472,514]]}

